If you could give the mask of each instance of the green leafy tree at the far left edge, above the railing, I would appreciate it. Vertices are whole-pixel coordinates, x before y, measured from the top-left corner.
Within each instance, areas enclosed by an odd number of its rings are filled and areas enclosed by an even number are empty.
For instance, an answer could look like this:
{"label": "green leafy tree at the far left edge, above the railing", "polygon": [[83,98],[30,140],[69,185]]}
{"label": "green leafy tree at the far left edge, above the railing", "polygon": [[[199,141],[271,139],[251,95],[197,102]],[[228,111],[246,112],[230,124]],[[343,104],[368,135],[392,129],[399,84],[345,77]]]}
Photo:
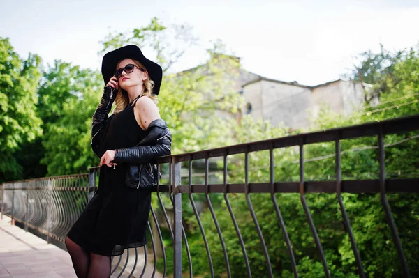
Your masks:
{"label": "green leafy tree at the far left edge, above the railing", "polygon": [[20,59],[8,38],[0,38],[0,183],[23,178],[16,152],[42,134],[36,115],[41,58]]}

